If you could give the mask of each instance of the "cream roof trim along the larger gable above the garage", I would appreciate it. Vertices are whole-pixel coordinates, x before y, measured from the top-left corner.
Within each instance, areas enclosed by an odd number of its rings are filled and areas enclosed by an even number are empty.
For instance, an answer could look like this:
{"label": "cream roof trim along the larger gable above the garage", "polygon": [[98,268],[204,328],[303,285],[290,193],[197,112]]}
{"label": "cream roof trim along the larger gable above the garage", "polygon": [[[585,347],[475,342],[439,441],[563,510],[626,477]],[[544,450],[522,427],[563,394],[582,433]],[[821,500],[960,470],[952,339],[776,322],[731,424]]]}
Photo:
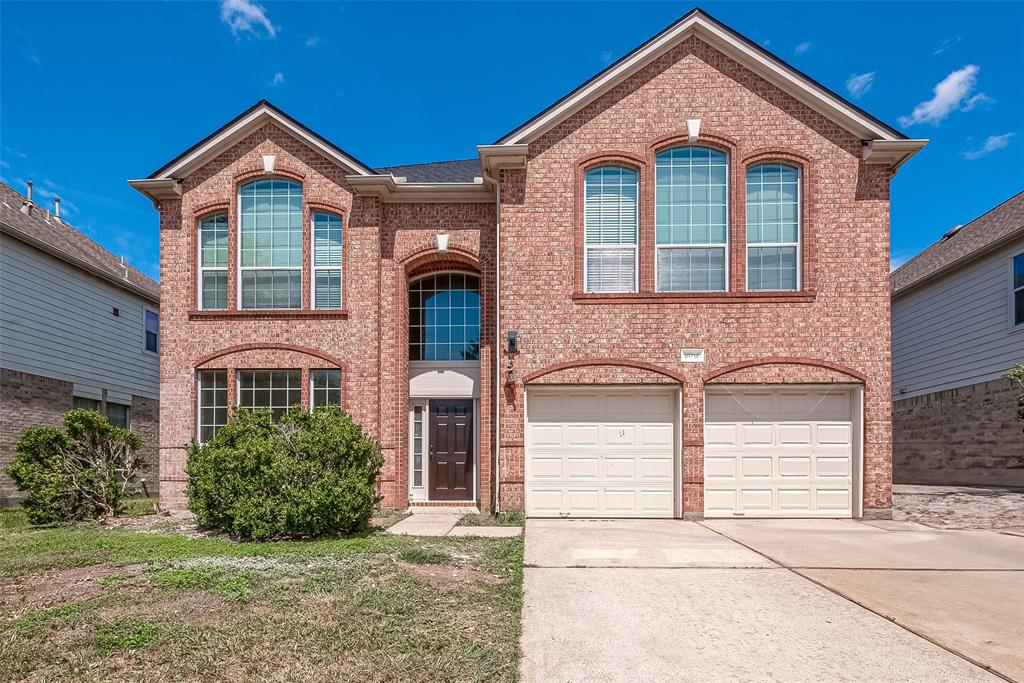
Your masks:
{"label": "cream roof trim along the larger gable above the garage", "polygon": [[[863,140],[908,140],[895,128],[876,119],[856,104],[715,19],[703,10],[693,9],[622,59],[500,138],[496,144],[516,144],[536,140],[690,36],[696,36],[712,47],[729,55]],[[925,140],[914,140],[914,142],[919,143],[916,148],[920,148],[924,146]],[[903,145],[905,144],[904,142]],[[916,152],[916,148],[906,155],[906,158]],[[901,163],[905,159],[899,161]]]}

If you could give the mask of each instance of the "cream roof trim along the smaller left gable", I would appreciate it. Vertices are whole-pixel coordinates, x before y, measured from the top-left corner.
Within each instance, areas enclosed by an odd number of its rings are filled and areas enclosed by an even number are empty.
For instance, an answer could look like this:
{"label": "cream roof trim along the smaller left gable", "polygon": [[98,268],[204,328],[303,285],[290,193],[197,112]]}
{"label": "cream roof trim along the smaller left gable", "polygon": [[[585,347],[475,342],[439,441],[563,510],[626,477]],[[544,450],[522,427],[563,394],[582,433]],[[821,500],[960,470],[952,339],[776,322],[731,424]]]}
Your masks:
{"label": "cream roof trim along the smaller left gable", "polygon": [[288,117],[282,116],[273,108],[261,103],[249,114],[223,130],[218,131],[185,156],[174,160],[154,173],[151,178],[182,178],[201,167],[209,159],[229,148],[239,139],[259,129],[264,124],[271,122],[351,173],[356,175],[374,175],[372,169],[367,168],[355,159],[343,154],[334,145],[326,143],[321,137],[310,134],[310,131],[305,128],[297,126],[295,122]]}

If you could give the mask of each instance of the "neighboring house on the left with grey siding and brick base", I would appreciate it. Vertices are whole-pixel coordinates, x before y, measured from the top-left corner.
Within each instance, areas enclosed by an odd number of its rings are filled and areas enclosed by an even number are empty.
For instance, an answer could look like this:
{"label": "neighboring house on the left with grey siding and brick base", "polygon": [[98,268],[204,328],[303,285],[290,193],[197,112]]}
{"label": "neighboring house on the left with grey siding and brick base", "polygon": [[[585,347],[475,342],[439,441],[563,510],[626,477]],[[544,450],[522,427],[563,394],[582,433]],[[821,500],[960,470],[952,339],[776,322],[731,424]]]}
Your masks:
{"label": "neighboring house on the left with grey siding and brick base", "polygon": [[160,285],[0,184],[0,506],[22,498],[2,470],[26,427],[99,411],[145,441],[158,490]]}

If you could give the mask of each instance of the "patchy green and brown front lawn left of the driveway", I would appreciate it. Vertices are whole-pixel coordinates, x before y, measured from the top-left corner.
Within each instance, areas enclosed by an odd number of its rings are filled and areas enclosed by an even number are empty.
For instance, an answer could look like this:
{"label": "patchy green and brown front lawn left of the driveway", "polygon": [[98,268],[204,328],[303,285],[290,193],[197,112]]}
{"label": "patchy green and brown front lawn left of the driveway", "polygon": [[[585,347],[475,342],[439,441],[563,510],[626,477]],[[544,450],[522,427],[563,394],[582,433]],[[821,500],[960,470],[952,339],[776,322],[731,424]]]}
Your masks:
{"label": "patchy green and brown front lawn left of the driveway", "polygon": [[518,678],[520,538],[138,528],[0,512],[0,680]]}

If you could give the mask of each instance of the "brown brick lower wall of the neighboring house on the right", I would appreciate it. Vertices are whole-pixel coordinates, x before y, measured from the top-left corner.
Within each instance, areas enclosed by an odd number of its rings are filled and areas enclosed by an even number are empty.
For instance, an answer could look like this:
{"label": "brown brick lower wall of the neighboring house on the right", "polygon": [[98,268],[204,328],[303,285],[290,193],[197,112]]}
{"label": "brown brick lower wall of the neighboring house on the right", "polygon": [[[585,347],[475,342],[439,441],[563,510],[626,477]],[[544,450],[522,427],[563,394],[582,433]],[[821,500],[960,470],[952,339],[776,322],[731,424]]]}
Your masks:
{"label": "brown brick lower wall of the neighboring house on the right", "polygon": [[893,481],[1024,486],[1016,393],[999,379],[893,401]]}

